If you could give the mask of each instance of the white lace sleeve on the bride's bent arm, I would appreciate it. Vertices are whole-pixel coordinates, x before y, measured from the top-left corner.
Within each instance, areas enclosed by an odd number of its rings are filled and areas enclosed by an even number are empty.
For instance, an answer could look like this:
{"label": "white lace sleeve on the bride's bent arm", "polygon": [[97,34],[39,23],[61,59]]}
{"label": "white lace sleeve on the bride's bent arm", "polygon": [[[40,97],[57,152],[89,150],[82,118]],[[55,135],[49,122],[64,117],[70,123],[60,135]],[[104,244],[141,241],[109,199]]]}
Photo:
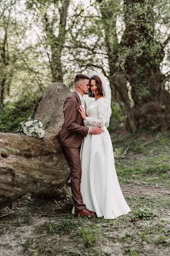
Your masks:
{"label": "white lace sleeve on the bride's bent arm", "polygon": [[84,120],[85,126],[87,125],[98,126],[98,127],[105,126],[106,119],[107,119],[106,111],[107,111],[107,106],[105,104],[105,99],[102,99],[98,104],[98,119],[95,119],[91,116],[86,116]]}

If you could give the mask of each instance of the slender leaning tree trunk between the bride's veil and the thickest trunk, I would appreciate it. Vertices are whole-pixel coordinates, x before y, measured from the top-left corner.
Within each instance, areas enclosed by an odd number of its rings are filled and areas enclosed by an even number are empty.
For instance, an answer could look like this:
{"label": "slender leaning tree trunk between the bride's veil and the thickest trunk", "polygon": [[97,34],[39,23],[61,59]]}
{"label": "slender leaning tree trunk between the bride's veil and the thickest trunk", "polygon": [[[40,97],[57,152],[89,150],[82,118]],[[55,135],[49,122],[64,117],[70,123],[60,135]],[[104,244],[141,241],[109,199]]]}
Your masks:
{"label": "slender leaning tree trunk between the bride's veil and the thickest trunk", "polygon": [[[97,0],[97,2],[103,2]],[[134,111],[131,108],[130,99],[128,98],[127,77],[125,72],[116,66],[120,45],[116,35],[116,15],[113,14],[113,3],[108,2],[108,6],[100,5],[100,12],[102,14],[102,22],[105,29],[105,48],[108,55],[109,66],[109,82],[112,86],[112,93],[115,100],[121,106],[124,113],[127,115],[128,130],[135,132],[135,118]],[[108,22],[109,20],[109,22]],[[112,40],[111,40],[112,38]],[[123,104],[122,104],[123,103]]]}

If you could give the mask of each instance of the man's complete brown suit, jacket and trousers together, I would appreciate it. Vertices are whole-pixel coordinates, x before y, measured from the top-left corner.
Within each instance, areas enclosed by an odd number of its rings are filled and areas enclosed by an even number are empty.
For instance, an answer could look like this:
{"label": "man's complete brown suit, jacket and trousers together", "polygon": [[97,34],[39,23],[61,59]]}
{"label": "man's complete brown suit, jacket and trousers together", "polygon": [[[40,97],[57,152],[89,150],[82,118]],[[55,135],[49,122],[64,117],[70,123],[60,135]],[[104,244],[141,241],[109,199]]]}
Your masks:
{"label": "man's complete brown suit, jacket and trousers together", "polygon": [[88,134],[88,127],[84,126],[82,116],[78,109],[81,105],[78,93],[72,93],[65,99],[63,106],[64,123],[59,132],[59,140],[71,168],[72,198],[75,209],[85,208],[80,192],[82,168],[80,163],[80,147],[83,137]]}

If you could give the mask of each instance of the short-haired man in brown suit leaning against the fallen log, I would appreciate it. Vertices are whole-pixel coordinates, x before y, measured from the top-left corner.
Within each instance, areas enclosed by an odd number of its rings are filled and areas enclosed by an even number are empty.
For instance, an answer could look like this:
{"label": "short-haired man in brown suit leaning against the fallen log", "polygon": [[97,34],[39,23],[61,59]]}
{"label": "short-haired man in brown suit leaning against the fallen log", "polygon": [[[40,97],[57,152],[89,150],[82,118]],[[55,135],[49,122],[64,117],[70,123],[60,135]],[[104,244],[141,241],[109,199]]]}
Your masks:
{"label": "short-haired man in brown suit leaning against the fallen log", "polygon": [[82,177],[82,167],[80,162],[80,147],[84,136],[90,134],[100,134],[102,129],[94,126],[88,128],[84,126],[82,116],[79,113],[79,106],[85,109],[84,94],[88,94],[88,76],[78,74],[74,81],[75,91],[65,99],[63,106],[64,123],[59,132],[59,140],[65,152],[68,165],[71,168],[71,188],[72,199],[75,206],[75,216],[95,216],[95,213],[88,211],[83,204],[80,184]]}

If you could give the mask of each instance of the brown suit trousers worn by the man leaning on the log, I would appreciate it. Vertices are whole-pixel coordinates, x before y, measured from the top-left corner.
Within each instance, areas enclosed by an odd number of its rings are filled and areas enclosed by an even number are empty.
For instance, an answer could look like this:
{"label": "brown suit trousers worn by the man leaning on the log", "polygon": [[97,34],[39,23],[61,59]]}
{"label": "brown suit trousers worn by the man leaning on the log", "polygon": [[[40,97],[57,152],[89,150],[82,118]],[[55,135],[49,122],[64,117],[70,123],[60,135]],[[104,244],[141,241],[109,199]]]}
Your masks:
{"label": "brown suit trousers worn by the man leaning on the log", "polygon": [[75,209],[78,211],[85,209],[85,204],[82,201],[82,194],[80,192],[80,184],[82,177],[82,167],[80,162],[80,148],[62,147],[71,168],[71,188],[72,200]]}

